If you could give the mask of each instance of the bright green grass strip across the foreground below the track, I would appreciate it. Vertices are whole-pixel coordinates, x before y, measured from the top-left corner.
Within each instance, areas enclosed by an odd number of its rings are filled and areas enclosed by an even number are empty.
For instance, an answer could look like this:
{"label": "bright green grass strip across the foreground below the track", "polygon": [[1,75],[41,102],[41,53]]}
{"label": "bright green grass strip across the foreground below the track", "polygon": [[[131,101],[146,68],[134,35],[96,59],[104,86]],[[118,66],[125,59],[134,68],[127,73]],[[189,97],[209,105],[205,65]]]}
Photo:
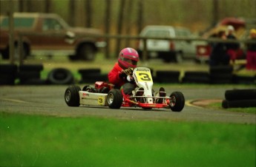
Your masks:
{"label": "bright green grass strip across the foreground below the track", "polygon": [[255,125],[0,112],[0,166],[255,166]]}

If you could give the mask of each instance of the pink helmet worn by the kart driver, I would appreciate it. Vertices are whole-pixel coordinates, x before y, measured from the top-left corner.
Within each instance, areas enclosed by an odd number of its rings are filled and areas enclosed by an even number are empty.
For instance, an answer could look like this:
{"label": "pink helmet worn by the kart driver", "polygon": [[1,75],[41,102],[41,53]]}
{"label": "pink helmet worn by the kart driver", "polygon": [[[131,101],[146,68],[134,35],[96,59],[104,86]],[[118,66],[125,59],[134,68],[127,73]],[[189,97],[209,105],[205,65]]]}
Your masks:
{"label": "pink helmet worn by the kart driver", "polygon": [[118,64],[122,69],[136,68],[139,61],[139,54],[131,47],[126,47],[119,52]]}

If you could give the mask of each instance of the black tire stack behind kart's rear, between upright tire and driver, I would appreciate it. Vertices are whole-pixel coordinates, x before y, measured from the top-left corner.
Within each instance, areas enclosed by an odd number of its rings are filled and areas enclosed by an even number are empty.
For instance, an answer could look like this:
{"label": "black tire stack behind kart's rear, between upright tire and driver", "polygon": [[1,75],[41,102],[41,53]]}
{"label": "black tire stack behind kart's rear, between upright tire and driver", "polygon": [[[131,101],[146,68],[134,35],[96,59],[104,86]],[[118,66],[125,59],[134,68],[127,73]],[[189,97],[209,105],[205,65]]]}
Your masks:
{"label": "black tire stack behind kart's rear, between upright tire and driver", "polygon": [[102,75],[101,69],[79,69],[82,76],[79,83],[95,83],[96,81],[108,81],[108,75]]}

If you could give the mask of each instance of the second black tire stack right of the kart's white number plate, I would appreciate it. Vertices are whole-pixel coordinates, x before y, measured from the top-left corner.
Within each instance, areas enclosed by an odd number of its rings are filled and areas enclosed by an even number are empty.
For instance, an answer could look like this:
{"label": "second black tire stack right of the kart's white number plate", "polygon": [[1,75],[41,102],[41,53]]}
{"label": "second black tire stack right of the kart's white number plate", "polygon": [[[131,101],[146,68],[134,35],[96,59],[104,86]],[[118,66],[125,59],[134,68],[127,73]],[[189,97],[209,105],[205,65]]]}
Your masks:
{"label": "second black tire stack right of the kart's white number plate", "polygon": [[209,83],[209,72],[185,72],[183,83]]}

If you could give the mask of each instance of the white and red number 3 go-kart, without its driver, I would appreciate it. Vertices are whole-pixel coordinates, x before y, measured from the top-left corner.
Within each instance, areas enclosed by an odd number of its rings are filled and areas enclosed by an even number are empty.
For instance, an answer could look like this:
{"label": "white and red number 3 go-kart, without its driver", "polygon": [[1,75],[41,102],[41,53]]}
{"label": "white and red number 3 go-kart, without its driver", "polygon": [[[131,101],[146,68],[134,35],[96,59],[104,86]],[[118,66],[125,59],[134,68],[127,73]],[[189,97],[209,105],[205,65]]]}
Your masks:
{"label": "white and red number 3 go-kart, without its driver", "polygon": [[142,109],[170,108],[181,112],[185,105],[182,92],[172,92],[168,97],[164,89],[154,92],[151,70],[137,67],[132,72],[137,88],[131,95],[125,95],[122,89],[116,89],[111,83],[96,81],[94,86],[68,86],[65,91],[65,102],[68,106],[108,106],[111,109],[123,107],[142,107]]}

